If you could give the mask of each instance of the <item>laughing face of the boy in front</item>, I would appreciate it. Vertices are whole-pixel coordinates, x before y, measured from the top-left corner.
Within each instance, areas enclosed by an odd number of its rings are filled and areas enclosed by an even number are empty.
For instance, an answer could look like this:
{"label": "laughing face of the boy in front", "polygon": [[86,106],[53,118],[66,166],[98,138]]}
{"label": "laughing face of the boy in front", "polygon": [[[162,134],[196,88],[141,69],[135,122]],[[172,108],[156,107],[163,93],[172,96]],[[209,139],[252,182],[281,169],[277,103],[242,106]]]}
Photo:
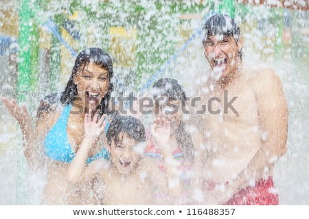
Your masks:
{"label": "laughing face of the boy in front", "polygon": [[129,138],[126,133],[119,133],[117,142],[111,143],[111,161],[122,174],[128,174],[139,165],[142,151],[133,138]]}

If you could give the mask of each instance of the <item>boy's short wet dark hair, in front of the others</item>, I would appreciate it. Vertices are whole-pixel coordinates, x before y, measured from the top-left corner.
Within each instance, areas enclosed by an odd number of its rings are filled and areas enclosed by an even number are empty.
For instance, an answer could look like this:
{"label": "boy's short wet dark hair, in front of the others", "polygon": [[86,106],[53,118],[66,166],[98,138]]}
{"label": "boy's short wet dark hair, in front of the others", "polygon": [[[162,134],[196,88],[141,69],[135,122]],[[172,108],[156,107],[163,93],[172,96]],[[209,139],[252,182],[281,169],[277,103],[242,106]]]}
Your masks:
{"label": "boy's short wet dark hair, in front of the others", "polygon": [[133,138],[137,143],[146,141],[143,123],[132,116],[117,116],[111,121],[106,133],[107,143],[111,145],[113,140],[117,142],[120,133],[126,133],[129,138]]}

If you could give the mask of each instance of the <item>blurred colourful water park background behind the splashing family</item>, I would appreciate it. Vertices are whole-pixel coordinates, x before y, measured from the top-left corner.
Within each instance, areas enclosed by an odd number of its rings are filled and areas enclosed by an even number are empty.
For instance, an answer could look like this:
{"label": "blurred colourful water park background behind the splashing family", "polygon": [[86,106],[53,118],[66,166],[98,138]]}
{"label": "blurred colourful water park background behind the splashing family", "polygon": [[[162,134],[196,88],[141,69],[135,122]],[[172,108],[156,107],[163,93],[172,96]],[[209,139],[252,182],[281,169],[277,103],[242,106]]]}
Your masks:
{"label": "blurred colourful water park background behind the splashing family", "polygon": [[[107,51],[119,92],[146,92],[160,77],[190,90],[209,68],[203,23],[229,14],[244,37],[244,59],[275,69],[289,107],[288,152],[275,166],[280,205],[309,205],[309,1],[0,0],[0,96],[35,116],[43,96],[61,92],[76,55]],[[16,120],[0,104],[0,205],[39,205],[45,181],[27,170]]]}

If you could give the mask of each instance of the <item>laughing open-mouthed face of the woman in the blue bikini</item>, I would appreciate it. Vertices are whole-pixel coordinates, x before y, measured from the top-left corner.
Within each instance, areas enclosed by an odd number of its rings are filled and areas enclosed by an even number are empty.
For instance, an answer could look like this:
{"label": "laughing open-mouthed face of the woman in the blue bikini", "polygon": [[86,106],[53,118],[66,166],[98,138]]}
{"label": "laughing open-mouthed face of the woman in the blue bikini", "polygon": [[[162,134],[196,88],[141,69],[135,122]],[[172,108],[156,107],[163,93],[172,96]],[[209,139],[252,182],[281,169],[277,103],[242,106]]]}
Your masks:
{"label": "laughing open-mouthed face of the woman in the blue bikini", "polygon": [[95,110],[108,90],[108,70],[89,63],[80,68],[74,82],[78,89],[78,101],[81,101],[83,107]]}

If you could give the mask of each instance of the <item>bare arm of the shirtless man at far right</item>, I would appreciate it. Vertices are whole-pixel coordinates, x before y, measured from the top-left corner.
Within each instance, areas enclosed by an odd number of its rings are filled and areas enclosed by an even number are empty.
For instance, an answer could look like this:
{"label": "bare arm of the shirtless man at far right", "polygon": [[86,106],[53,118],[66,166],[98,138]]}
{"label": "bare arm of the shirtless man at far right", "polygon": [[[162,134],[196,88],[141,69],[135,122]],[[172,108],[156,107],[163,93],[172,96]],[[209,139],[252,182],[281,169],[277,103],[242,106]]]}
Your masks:
{"label": "bare arm of the shirtless man at far right", "polygon": [[255,181],[268,176],[277,160],[286,153],[288,136],[288,106],[282,83],[273,70],[258,75],[256,99],[258,101],[259,130],[262,147],[247,168],[235,181],[236,188],[254,185]]}

